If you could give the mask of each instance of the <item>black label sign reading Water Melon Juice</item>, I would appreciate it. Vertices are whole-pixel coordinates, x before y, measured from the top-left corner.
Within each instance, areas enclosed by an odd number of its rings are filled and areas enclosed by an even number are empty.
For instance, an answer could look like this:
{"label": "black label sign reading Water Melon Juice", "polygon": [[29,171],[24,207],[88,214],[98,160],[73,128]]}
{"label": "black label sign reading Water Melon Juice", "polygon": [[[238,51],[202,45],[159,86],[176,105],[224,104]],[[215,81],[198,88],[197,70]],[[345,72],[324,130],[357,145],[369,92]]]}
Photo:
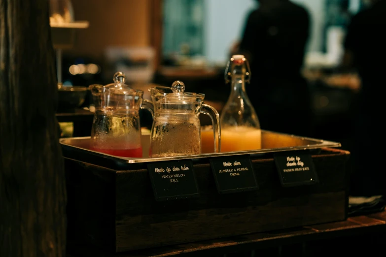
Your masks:
{"label": "black label sign reading Water Melon Juice", "polygon": [[191,160],[153,162],[147,169],[157,201],[199,196]]}

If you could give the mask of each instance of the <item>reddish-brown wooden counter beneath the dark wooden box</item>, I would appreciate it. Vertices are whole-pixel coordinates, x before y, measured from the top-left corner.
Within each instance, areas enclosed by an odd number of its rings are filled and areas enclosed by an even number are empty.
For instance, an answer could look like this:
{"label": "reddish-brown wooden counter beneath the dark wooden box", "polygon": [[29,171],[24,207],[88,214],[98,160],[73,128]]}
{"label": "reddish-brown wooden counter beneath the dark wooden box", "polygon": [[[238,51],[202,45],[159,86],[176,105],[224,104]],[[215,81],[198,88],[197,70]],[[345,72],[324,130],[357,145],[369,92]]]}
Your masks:
{"label": "reddish-brown wooden counter beneath the dark wooden box", "polygon": [[[336,240],[338,239],[339,240]],[[369,240],[366,241],[366,238]],[[94,257],[165,257],[165,256],[221,256],[234,252],[254,251],[258,256],[259,252],[264,252],[269,248],[281,251],[282,246],[301,244],[303,256],[316,256],[325,254],[331,247],[339,252],[349,253],[376,251],[377,246],[386,238],[386,211],[348,218],[347,221],[333,222],[321,225],[310,225],[298,227],[290,230],[277,230],[266,233],[255,233],[219,240],[208,240],[196,243],[176,245],[173,247],[161,247],[145,251],[135,251],[121,254],[105,254],[101,251],[93,252],[89,249],[83,249],[80,255],[71,255],[71,249],[68,251],[68,257],[94,256]],[[328,242],[328,244],[326,244]],[[355,242],[358,245],[355,245]],[[350,243],[350,245],[348,244]],[[359,244],[360,243],[360,244]],[[366,245],[367,244],[367,245]],[[306,249],[304,249],[306,248]],[[311,249],[314,253],[310,253]],[[366,249],[368,248],[368,249]],[[370,249],[371,248],[371,249]],[[324,251],[322,249],[325,249]],[[79,251],[79,249],[76,249]],[[271,250],[272,251],[272,250]],[[307,253],[308,252],[308,253]],[[278,254],[279,255],[279,254]],[[247,255],[235,255],[247,256]],[[251,256],[251,255],[249,255]],[[272,256],[272,255],[271,255]],[[275,255],[276,256],[276,255]]]}

